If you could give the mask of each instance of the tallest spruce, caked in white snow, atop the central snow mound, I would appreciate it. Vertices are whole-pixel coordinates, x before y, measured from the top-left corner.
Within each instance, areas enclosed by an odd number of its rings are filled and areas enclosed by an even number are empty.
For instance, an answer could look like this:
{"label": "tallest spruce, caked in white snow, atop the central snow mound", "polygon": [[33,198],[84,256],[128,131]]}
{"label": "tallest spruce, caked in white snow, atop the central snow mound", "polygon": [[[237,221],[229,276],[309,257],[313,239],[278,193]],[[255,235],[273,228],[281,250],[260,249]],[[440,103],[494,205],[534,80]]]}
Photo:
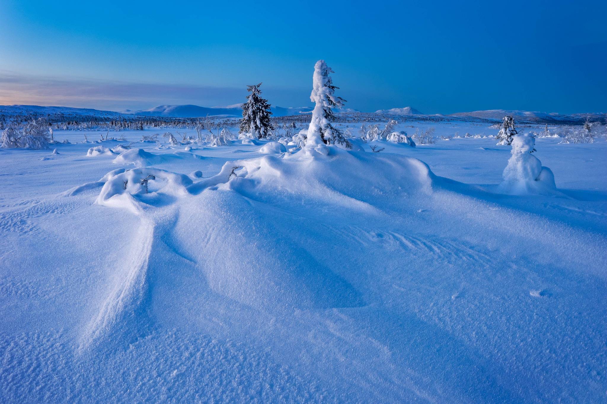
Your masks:
{"label": "tallest spruce, caked in white snow, atop the central snow mound", "polygon": [[331,108],[343,107],[346,101],[335,95],[335,90],[339,87],[333,85],[333,79],[329,76],[330,73],[334,72],[325,61],[317,61],[314,65],[310,101],[316,105],[312,111],[312,119],[308,127],[307,148],[314,149],[322,144],[341,144],[346,148],[352,148],[350,141],[345,138],[344,134],[331,124],[331,121],[335,118]]}

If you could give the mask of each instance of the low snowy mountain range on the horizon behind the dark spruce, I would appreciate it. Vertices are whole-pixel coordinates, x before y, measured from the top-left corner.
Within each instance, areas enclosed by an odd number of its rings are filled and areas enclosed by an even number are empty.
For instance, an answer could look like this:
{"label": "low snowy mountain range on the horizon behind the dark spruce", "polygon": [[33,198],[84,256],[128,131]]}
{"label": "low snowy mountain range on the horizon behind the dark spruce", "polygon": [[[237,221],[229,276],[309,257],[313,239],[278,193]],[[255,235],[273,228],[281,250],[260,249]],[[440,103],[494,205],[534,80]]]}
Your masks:
{"label": "low snowy mountain range on the horizon behind the dark spruce", "polygon": [[[288,116],[312,111],[311,107],[299,108],[270,108],[273,116]],[[199,118],[203,116],[242,116],[242,104],[228,105],[227,107],[199,107],[198,105],[158,105],[158,107],[149,110],[124,110],[125,114],[140,116],[165,116],[171,118]]]}

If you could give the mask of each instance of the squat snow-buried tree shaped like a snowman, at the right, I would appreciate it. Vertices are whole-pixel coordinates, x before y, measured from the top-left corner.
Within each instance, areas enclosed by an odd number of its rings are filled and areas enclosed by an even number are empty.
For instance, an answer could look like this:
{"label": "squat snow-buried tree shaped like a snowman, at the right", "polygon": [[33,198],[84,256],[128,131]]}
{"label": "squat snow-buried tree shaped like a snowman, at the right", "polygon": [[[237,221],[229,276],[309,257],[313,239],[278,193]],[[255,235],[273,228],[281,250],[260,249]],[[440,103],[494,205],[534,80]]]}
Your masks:
{"label": "squat snow-buried tree shaped like a snowman, at the right", "polygon": [[504,169],[504,180],[499,190],[506,194],[556,194],[554,174],[548,167],[542,167],[540,160],[531,152],[535,137],[531,133],[512,137],[512,157]]}

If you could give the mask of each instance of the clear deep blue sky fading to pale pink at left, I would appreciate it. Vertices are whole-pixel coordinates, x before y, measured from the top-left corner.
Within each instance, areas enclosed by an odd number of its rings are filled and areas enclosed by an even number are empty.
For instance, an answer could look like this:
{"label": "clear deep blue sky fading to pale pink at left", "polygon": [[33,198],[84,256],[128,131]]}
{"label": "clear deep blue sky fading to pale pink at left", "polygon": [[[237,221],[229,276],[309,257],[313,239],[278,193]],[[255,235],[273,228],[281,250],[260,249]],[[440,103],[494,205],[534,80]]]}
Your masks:
{"label": "clear deep blue sky fading to pale pink at left", "polygon": [[0,104],[607,111],[606,1],[0,1]]}

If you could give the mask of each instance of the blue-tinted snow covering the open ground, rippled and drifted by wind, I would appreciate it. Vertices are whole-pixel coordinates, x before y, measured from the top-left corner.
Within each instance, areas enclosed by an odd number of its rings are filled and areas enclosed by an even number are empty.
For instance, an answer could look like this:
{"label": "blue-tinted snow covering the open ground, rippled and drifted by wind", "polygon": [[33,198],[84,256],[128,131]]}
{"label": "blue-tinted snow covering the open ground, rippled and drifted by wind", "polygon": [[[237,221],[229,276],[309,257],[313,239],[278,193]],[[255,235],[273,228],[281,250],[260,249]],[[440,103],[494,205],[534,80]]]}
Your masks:
{"label": "blue-tinted snow covering the open ground, rippled and drifted by wind", "polygon": [[607,142],[488,125],[0,149],[2,402],[605,401]]}

